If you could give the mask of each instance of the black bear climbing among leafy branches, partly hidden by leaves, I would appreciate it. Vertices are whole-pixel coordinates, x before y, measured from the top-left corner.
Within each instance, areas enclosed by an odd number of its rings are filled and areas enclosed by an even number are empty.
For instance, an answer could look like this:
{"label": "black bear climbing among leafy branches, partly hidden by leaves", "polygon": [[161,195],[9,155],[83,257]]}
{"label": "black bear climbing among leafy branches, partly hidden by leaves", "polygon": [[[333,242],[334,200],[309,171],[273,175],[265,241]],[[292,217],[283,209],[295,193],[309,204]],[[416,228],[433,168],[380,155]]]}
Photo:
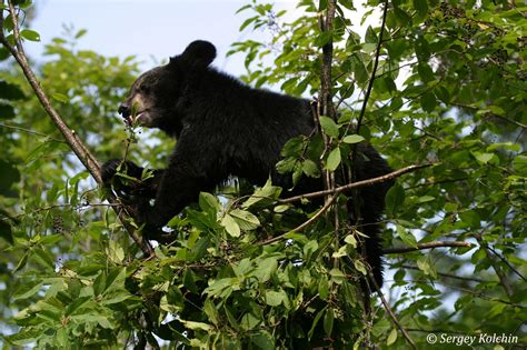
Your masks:
{"label": "black bear climbing among leafy branches, partly hidden by leaves", "polygon": [[[159,232],[168,220],[197,201],[200,191],[212,191],[229,176],[252,184],[262,184],[270,176],[275,184],[289,188],[290,174],[280,174],[275,168],[280,150],[289,139],[316,130],[310,101],[250,88],[211,68],[215,57],[216,48],[210,42],[191,42],[166,66],[141,74],[119,107],[126,120],[133,118],[177,138],[166,169],[155,170],[153,178],[139,188],[120,188],[125,196],[133,192],[136,213],[146,224],[148,238],[156,239],[152,232]],[[354,164],[357,180],[391,171],[370,146],[359,144],[358,151],[362,157],[357,157]],[[119,164],[119,160],[105,163],[106,183],[111,182]],[[136,178],[143,170],[132,162],[127,162],[126,168]],[[361,231],[369,237],[366,254],[379,286],[382,274],[378,220],[389,187],[388,181],[359,191]],[[321,180],[307,179],[296,192],[321,188]]]}

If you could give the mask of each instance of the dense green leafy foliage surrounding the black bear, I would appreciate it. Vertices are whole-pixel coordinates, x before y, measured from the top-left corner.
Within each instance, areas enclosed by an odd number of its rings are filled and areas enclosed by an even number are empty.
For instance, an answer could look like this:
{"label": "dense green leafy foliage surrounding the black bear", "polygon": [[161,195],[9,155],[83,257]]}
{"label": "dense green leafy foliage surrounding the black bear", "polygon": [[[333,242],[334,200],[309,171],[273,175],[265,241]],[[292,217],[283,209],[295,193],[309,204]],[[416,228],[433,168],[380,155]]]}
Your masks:
{"label": "dense green leafy foliage surrounding the black bear", "polygon": [[[332,30],[321,31],[328,1],[299,1],[291,20],[252,1],[240,9],[248,18],[240,30],[265,28],[270,39],[233,43],[229,54],[246,56],[247,83],[310,97],[320,91],[321,48],[334,42],[339,117],[320,117],[326,143],[288,142],[279,167],[294,178],[334,171],[365,139],[394,169],[434,164],[398,178],[387,198],[385,247],[414,248],[386,258],[389,308],[379,294],[364,298],[360,227],[336,228],[341,206],[298,229],[318,209],[277,201],[281,189],[271,183],[201,193],[170,221],[176,242],[145,258],[1,48],[6,347],[407,349],[395,321],[419,348],[430,347],[430,333],[438,348],[440,334],[527,342],[527,7],[369,1],[364,21],[372,24],[362,33],[348,0],[337,1]],[[17,13],[30,6],[13,2]],[[44,61],[31,62],[43,90],[97,159],[127,154],[159,166],[172,141],[126,130],[115,114],[138,73],[135,59],[78,50],[83,33],[70,29],[46,46]],[[21,36],[39,40],[29,28]],[[470,247],[424,249],[445,241]]]}

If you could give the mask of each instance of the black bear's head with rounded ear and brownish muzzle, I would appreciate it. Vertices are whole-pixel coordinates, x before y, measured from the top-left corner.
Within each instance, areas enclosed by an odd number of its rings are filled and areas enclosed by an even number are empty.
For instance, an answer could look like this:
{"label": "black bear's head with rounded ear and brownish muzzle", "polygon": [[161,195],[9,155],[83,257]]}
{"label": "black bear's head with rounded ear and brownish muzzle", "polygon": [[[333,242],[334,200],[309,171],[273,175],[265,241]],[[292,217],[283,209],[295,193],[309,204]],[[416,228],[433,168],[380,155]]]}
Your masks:
{"label": "black bear's head with rounded ear and brownish muzzle", "polygon": [[171,119],[189,71],[207,69],[215,58],[212,43],[202,40],[191,42],[167,64],[142,73],[133,82],[127,100],[119,106],[119,113],[128,123],[167,129],[166,123],[175,122]]}

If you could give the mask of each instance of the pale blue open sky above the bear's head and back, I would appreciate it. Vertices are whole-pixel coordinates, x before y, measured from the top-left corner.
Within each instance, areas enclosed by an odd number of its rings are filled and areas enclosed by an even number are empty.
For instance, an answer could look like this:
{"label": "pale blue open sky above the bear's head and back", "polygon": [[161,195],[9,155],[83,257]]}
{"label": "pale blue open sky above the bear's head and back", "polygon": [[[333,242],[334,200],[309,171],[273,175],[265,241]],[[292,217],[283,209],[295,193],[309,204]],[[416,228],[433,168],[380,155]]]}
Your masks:
{"label": "pale blue open sky above the bear's head and back", "polygon": [[[236,11],[249,0],[36,0],[31,29],[41,42],[27,42],[27,51],[39,58],[43,44],[63,33],[64,24],[87,29],[79,47],[105,56],[136,54],[143,69],[182,52],[196,40],[211,41],[218,50],[215,66],[232,74],[245,72],[241,54],[226,59],[229,46],[248,38],[265,38],[261,31],[239,27],[253,12]],[[294,9],[297,1],[275,1],[277,9]]]}

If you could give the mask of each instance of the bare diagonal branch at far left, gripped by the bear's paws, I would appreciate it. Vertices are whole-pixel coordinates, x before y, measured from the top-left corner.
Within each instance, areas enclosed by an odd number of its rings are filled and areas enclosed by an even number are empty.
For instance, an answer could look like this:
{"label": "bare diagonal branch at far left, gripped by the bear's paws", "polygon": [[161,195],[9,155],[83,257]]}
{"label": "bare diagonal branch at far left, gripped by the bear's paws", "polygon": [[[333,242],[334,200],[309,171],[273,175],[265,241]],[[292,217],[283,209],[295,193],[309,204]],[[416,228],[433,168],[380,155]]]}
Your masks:
{"label": "bare diagonal branch at far left, gripped by the bear's paws", "polygon": [[[101,179],[101,171],[100,166],[97,159],[91,154],[88,148],[82,143],[79,137],[76,134],[74,130],[70,129],[68,124],[63,121],[62,117],[57,112],[57,110],[51,104],[48,96],[43,91],[42,87],[40,86],[37,76],[34,74],[33,70],[29,66],[28,58],[23,51],[22,39],[20,37],[19,31],[19,23],[18,17],[14,9],[14,6],[11,0],[8,1],[9,3],[9,12],[11,13],[11,18],[13,21],[13,39],[14,39],[14,47],[9,42],[8,38],[3,32],[3,11],[0,11],[0,43],[11,53],[14,60],[18,62],[22,72],[28,80],[29,84],[31,86],[34,94],[42,104],[44,111],[51,118],[56,127],[59,129],[60,133],[64,138],[66,142],[69,144],[71,150],[76,153],[77,158],[80,162],[84,166],[86,169],[90,172],[93,179],[97,181],[98,184],[102,184]],[[153,249],[148,242],[148,240],[141,239],[136,233],[136,229],[128,222],[128,218],[130,214],[127,212],[127,209],[121,206],[121,203],[117,200],[117,198],[110,193],[108,201],[116,210],[117,216],[119,217],[120,221],[125,226],[126,230],[130,238],[141,248],[145,254],[151,256],[153,254]]]}

